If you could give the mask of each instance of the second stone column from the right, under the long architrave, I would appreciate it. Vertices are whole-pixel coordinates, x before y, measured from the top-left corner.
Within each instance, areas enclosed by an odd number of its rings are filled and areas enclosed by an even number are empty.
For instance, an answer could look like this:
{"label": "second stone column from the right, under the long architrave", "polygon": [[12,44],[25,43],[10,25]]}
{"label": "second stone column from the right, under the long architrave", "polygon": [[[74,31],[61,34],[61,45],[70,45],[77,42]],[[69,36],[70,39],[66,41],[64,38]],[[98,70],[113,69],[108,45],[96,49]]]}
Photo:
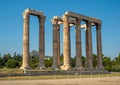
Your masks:
{"label": "second stone column from the right, under the long architrave", "polygon": [[93,56],[92,56],[92,33],[91,33],[91,22],[86,22],[86,59],[87,59],[87,69],[93,70]]}

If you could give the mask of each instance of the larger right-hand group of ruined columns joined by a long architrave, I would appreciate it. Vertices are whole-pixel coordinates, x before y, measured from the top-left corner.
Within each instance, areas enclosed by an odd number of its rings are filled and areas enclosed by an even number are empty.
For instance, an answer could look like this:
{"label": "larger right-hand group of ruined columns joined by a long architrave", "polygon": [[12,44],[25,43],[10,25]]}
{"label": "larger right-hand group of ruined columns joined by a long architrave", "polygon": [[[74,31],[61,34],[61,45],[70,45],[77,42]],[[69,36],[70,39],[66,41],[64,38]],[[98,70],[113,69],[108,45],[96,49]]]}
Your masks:
{"label": "larger right-hand group of ruined columns joined by a long architrave", "polygon": [[[84,21],[85,24],[81,25]],[[102,42],[101,42],[101,21],[96,18],[83,16],[73,12],[66,12],[62,18],[55,16],[52,19],[53,24],[53,67],[59,68],[60,66],[60,24],[63,24],[63,56],[64,64],[62,69],[71,69],[71,45],[70,45],[70,26],[76,27],[76,69],[84,70],[82,65],[82,43],[81,43],[81,27],[85,28],[86,35],[86,59],[87,70],[94,70],[93,56],[92,56],[92,26],[96,26],[97,34],[97,57],[98,69],[103,70],[102,64]]]}

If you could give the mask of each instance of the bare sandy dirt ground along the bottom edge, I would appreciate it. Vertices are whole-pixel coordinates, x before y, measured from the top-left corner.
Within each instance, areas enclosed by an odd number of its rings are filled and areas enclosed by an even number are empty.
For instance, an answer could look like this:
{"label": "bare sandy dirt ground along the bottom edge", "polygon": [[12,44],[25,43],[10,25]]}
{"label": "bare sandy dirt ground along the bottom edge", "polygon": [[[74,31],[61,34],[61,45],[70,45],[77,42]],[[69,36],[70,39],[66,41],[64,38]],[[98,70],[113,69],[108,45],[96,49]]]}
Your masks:
{"label": "bare sandy dirt ground along the bottom edge", "polygon": [[120,85],[120,77],[53,80],[11,80],[0,81],[0,85]]}

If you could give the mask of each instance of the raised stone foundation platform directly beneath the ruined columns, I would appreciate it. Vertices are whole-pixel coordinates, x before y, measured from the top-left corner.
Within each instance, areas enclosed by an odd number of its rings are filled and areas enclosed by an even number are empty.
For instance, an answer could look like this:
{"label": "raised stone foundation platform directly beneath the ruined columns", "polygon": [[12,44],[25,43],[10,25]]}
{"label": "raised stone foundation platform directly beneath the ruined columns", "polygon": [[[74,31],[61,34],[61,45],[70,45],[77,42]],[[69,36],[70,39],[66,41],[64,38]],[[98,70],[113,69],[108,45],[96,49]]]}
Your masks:
{"label": "raised stone foundation platform directly beneath the ruined columns", "polygon": [[108,71],[26,71],[24,74],[31,76],[42,76],[42,75],[89,75],[89,74],[109,74]]}

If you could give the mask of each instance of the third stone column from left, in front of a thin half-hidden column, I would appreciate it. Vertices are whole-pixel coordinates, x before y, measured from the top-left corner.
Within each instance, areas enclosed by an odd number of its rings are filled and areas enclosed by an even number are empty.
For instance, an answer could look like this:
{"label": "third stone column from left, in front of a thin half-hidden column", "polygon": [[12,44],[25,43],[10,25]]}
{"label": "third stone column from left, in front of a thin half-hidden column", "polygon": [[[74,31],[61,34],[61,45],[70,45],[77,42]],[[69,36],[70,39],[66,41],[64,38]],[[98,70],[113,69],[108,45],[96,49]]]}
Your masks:
{"label": "third stone column from left, in front of a thin half-hidden column", "polygon": [[53,68],[58,69],[58,41],[57,41],[57,24],[58,21],[53,19]]}

